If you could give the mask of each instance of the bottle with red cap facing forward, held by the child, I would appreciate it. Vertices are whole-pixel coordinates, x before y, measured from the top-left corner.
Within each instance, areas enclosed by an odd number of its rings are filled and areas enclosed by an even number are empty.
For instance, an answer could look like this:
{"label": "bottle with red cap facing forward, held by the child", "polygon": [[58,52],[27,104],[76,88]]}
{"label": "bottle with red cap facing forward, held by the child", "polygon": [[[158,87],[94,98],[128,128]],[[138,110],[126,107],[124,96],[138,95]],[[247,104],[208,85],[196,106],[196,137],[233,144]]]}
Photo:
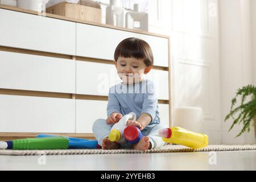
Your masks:
{"label": "bottle with red cap facing forward, held by the child", "polygon": [[139,140],[144,137],[137,126],[127,126],[125,130],[123,130],[123,136],[128,143],[132,144],[138,143]]}

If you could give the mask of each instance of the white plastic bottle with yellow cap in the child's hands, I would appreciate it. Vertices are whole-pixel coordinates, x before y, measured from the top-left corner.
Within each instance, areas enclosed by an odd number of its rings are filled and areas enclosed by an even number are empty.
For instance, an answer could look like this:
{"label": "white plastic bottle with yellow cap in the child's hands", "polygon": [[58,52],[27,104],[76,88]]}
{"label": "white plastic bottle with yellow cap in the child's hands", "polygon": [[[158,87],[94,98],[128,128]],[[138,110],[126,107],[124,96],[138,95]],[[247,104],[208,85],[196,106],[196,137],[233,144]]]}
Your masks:
{"label": "white plastic bottle with yellow cap in the child's hands", "polygon": [[117,123],[114,124],[109,133],[110,141],[118,143],[126,142],[125,138],[123,137],[123,130],[125,130],[128,120],[136,120],[136,114],[133,112],[126,114]]}

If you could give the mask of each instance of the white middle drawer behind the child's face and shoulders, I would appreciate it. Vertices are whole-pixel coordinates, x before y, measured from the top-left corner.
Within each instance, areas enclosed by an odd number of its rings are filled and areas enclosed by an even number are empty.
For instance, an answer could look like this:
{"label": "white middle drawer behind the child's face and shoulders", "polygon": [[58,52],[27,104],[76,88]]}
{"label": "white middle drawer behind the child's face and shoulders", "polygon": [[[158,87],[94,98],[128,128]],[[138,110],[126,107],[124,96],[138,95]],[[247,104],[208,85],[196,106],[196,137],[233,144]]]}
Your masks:
{"label": "white middle drawer behind the child's face and shoulders", "polygon": [[[77,61],[76,71],[77,94],[108,96],[110,86],[121,82],[112,64]],[[152,69],[146,78],[155,83],[158,99],[168,100],[168,72]]]}

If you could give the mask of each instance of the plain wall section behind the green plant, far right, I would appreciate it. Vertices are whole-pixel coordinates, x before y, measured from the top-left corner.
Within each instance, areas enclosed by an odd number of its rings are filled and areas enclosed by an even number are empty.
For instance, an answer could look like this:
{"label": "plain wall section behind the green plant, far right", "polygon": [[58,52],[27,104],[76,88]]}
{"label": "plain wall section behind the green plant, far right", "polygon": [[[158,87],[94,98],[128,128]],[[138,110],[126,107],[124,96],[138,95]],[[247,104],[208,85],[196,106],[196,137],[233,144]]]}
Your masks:
{"label": "plain wall section behind the green plant, far right", "polygon": [[242,125],[228,132],[233,120],[223,122],[236,90],[253,82],[250,0],[220,1],[219,7],[222,143],[255,143],[253,127],[250,134],[234,138]]}

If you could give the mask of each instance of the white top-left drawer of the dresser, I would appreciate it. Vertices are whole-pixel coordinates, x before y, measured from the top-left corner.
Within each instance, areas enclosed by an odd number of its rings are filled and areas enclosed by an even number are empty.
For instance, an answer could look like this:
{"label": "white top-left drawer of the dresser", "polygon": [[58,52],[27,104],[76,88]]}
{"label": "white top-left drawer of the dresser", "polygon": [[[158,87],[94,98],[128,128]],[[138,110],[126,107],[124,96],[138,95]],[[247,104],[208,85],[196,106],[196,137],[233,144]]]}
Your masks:
{"label": "white top-left drawer of the dresser", "polygon": [[76,23],[0,9],[0,45],[75,55]]}

